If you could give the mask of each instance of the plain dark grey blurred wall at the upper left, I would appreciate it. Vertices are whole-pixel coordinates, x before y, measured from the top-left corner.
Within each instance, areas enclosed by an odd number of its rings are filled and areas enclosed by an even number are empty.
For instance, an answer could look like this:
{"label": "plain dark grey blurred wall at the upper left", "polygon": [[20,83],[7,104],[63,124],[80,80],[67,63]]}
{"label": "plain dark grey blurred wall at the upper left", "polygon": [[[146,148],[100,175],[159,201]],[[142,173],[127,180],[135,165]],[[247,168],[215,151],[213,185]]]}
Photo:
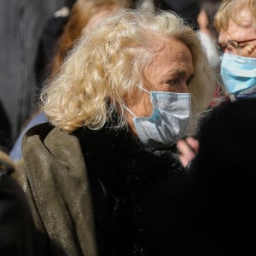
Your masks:
{"label": "plain dark grey blurred wall at the upper left", "polygon": [[[3,144],[8,146],[34,112],[34,61],[45,22],[64,0],[0,0],[0,103]],[[8,123],[9,122],[9,123]]]}

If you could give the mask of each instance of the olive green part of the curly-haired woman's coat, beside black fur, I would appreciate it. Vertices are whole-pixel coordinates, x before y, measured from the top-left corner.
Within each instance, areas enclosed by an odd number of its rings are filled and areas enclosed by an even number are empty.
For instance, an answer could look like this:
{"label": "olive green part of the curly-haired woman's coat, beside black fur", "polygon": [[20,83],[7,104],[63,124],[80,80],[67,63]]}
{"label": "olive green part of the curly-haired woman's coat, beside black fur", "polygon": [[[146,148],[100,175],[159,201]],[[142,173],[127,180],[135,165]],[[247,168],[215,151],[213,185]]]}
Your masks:
{"label": "olive green part of the curly-haired woman's coat, beside black fur", "polygon": [[28,131],[15,178],[37,231],[35,255],[96,256],[90,189],[79,139],[49,125]]}

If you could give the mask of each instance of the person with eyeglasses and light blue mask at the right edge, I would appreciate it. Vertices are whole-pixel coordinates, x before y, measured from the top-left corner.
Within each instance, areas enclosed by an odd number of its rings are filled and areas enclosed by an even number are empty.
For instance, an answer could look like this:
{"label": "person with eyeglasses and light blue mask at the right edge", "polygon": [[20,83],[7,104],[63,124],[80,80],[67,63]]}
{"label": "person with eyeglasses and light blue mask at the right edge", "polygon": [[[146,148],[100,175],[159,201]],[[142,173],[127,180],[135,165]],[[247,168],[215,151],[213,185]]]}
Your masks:
{"label": "person with eyeglasses and light blue mask at the right edge", "polygon": [[215,15],[223,55],[220,73],[230,100],[256,97],[256,0],[225,0]]}

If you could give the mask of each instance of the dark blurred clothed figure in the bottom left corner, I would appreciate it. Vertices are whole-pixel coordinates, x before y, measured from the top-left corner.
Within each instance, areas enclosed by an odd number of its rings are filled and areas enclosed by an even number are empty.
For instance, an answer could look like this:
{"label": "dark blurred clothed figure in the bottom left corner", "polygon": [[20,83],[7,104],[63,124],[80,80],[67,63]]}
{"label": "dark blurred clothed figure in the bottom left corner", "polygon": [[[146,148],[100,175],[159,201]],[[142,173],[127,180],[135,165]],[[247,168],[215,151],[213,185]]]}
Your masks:
{"label": "dark blurred clothed figure in the bottom left corner", "polygon": [[0,160],[0,255],[32,256],[34,227],[26,195],[11,177],[14,172]]}

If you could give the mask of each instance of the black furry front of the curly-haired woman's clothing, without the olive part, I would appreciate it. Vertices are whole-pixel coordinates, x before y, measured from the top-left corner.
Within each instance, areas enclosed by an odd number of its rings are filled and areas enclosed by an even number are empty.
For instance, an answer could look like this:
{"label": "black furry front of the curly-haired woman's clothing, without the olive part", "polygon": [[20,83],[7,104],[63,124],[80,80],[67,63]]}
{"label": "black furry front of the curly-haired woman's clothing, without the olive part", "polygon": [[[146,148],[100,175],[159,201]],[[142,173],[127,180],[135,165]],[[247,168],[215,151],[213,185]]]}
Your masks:
{"label": "black furry front of the curly-haired woman's clothing, without the olive part", "polygon": [[108,126],[81,128],[76,136],[93,188],[102,255],[145,255],[141,207],[158,183],[183,173],[176,147],[146,149],[127,129]]}

